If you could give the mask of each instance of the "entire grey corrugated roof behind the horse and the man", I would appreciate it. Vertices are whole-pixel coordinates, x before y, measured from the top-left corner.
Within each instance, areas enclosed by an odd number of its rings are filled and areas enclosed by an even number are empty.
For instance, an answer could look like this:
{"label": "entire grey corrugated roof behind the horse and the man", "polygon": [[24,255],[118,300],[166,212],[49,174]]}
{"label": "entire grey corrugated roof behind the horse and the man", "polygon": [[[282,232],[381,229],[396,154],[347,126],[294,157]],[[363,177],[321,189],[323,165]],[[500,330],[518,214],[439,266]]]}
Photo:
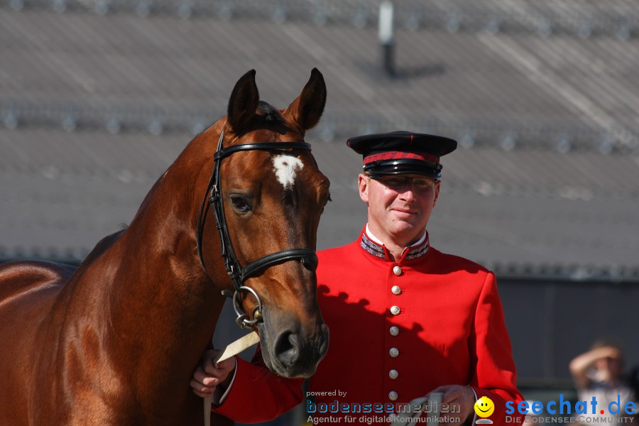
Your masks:
{"label": "entire grey corrugated roof behind the horse and the man", "polygon": [[318,67],[329,99],[307,139],[334,200],[320,248],[366,220],[344,140],[410,129],[460,143],[433,246],[502,274],[639,280],[639,6],[402,2],[389,77],[377,5],[0,3],[0,258],[80,260],[244,72],[283,108]]}

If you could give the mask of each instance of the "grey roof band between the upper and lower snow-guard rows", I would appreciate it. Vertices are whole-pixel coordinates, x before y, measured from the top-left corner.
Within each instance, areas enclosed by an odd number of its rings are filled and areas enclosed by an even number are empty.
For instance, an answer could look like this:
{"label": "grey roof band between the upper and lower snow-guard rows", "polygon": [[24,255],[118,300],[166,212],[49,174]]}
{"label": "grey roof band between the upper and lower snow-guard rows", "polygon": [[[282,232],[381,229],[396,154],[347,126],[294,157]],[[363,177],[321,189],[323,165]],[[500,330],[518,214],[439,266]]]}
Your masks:
{"label": "grey roof band between the upper and lower snow-guard rows", "polygon": [[201,129],[249,68],[284,105],[317,66],[327,138],[410,126],[475,143],[639,146],[634,39],[400,30],[398,78],[381,71],[374,28],[305,21],[4,9],[0,40],[0,115],[18,126]]}

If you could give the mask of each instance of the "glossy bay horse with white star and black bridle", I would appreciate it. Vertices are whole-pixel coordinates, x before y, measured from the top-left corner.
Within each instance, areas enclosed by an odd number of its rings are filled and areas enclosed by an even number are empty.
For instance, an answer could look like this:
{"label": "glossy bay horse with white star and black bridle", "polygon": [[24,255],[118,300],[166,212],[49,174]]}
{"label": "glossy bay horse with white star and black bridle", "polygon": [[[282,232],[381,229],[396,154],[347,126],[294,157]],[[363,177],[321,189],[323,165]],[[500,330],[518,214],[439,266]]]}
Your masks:
{"label": "glossy bay horse with white star and black bridle", "polygon": [[326,85],[313,69],[275,109],[255,75],[80,266],[0,265],[0,425],[201,425],[189,382],[227,295],[271,371],[315,372],[328,345],[315,246],[329,180],[303,138]]}

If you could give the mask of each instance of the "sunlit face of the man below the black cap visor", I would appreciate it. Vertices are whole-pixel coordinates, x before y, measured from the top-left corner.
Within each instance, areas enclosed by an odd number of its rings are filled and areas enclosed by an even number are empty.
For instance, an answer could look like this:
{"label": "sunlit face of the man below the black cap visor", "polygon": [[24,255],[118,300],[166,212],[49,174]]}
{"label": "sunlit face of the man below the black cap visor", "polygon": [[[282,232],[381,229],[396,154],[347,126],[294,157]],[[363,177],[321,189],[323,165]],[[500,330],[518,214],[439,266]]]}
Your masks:
{"label": "sunlit face of the man below the black cap visor", "polygon": [[408,178],[408,181],[397,185],[390,175],[384,178],[385,183],[360,174],[359,197],[368,204],[368,226],[375,236],[382,241],[391,239],[399,246],[409,246],[424,234],[441,184],[415,185],[411,179],[427,179],[420,175],[400,175],[399,178]]}

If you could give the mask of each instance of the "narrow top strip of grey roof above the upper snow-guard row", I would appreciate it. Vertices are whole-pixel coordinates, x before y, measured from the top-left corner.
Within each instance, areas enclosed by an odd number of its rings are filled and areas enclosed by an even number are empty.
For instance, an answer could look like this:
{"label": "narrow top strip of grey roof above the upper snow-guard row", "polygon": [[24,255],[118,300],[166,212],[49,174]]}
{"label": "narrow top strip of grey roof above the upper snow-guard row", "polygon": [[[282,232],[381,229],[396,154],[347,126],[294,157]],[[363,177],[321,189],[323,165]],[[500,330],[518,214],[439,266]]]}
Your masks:
{"label": "narrow top strip of grey roof above the upper snow-guard row", "polygon": [[[376,23],[378,0],[6,0],[14,10],[44,8],[55,11],[135,13],[138,16],[173,14],[182,18],[218,17],[351,24],[359,28]],[[535,31],[542,35],[564,32],[580,37],[600,33],[628,37],[637,28],[632,0],[403,0],[395,3],[398,23],[448,31]]]}

